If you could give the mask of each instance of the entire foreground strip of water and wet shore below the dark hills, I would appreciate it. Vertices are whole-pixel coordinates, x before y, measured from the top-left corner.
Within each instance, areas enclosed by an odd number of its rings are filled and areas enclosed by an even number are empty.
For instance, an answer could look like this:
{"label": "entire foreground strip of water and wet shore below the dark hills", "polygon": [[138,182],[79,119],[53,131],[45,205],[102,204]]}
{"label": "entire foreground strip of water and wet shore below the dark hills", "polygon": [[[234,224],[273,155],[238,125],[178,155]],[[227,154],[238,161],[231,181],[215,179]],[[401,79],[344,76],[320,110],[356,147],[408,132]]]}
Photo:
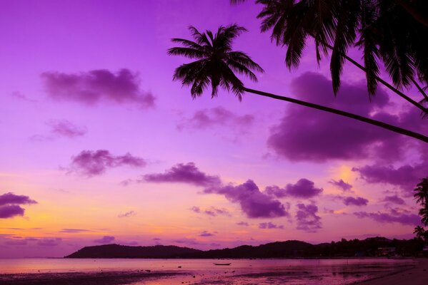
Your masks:
{"label": "entire foreground strip of water and wet shore below the dark hills", "polygon": [[427,268],[427,260],[412,259],[4,259],[0,284],[410,285],[425,284]]}

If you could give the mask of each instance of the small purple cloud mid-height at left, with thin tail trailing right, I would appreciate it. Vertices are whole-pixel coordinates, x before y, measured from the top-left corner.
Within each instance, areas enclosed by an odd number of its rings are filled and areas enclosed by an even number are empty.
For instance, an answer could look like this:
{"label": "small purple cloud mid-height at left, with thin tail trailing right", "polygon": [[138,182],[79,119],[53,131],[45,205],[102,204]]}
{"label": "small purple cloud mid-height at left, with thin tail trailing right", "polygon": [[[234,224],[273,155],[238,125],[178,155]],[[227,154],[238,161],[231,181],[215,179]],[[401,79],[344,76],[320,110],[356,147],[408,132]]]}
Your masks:
{"label": "small purple cloud mid-height at left, with thin tail trailing right", "polygon": [[144,167],[146,160],[131,155],[112,155],[109,150],[82,150],[79,155],[71,157],[69,172],[77,172],[91,177],[101,175],[108,168],[128,165],[131,167]]}

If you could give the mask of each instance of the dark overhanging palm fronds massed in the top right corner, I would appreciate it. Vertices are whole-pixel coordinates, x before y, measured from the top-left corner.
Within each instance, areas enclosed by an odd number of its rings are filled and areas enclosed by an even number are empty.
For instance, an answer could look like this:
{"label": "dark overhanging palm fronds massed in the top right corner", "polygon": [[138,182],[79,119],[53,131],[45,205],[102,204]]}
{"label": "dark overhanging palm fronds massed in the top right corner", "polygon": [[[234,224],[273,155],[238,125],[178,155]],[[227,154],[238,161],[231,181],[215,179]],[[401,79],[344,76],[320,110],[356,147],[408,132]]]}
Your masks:
{"label": "dark overhanging palm fronds massed in the top right corner", "polygon": [[[231,0],[236,4],[244,0]],[[402,5],[404,9],[402,9]],[[428,95],[414,77],[428,83],[428,28],[424,26],[428,1],[412,4],[406,0],[257,0],[264,7],[257,18],[262,19],[262,32],[272,30],[271,39],[278,46],[287,46],[288,68],[299,66],[308,38],[315,41],[317,61],[332,51],[330,71],[334,93],[340,86],[344,61],[366,73],[369,95],[377,83],[428,115],[424,104]],[[415,3],[417,2],[417,3]],[[418,9],[419,8],[419,11]],[[419,21],[423,19],[424,21]],[[425,23],[425,24],[424,24]],[[351,47],[363,51],[364,66],[347,55]],[[378,61],[382,61],[397,88],[379,78]],[[402,93],[403,86],[416,86],[424,98],[418,103]]]}

